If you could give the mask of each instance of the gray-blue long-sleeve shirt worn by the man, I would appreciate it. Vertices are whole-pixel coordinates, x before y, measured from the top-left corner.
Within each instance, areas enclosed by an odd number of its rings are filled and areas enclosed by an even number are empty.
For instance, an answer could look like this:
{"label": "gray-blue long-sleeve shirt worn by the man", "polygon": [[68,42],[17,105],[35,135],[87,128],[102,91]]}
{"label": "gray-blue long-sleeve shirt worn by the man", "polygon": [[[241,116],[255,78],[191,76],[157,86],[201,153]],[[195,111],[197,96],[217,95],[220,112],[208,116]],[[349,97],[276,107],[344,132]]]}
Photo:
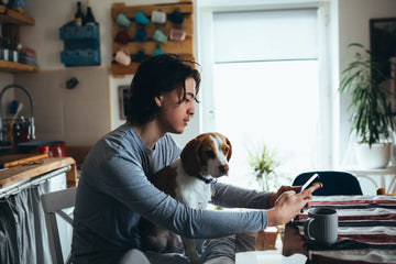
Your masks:
{"label": "gray-blue long-sleeve shirt worn by the man", "polygon": [[[148,178],[177,160],[180,147],[165,135],[150,150],[125,123],[103,136],[86,157],[74,211],[72,252],[79,263],[117,263],[140,246],[143,216],[186,238],[211,239],[263,230],[265,210],[194,210],[154,187]],[[147,178],[148,177],[148,178]],[[266,208],[268,193],[212,184],[212,202],[222,207]]]}

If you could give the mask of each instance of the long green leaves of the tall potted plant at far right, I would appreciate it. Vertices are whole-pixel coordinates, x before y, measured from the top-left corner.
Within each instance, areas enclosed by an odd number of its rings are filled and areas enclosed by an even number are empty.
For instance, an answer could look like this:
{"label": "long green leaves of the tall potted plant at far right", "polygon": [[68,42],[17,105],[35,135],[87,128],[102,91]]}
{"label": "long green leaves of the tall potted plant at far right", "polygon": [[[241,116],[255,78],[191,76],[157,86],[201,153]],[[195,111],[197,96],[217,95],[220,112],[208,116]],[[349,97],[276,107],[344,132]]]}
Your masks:
{"label": "long green leaves of the tall potted plant at far right", "polygon": [[[349,47],[358,48],[354,61],[342,70],[339,92],[352,91],[349,106],[351,114],[351,133],[355,132],[360,142],[370,146],[389,136],[389,129],[395,129],[395,116],[387,94],[378,84],[391,79],[382,72],[382,63],[376,59],[371,51],[365,50],[360,43],[351,43]],[[361,52],[360,52],[361,51]],[[372,74],[375,79],[372,78]]]}

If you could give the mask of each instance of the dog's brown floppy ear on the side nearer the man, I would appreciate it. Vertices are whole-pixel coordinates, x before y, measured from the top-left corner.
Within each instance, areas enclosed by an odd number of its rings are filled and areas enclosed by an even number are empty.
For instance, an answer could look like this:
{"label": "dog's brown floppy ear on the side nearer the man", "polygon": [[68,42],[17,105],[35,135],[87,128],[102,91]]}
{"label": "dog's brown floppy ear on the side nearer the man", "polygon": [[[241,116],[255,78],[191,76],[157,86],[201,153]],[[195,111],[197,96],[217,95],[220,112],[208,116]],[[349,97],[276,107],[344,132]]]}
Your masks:
{"label": "dog's brown floppy ear on the side nearer the man", "polygon": [[182,151],[182,164],[186,173],[189,175],[197,175],[200,170],[200,158],[198,155],[199,146],[200,140],[194,139],[188,142]]}

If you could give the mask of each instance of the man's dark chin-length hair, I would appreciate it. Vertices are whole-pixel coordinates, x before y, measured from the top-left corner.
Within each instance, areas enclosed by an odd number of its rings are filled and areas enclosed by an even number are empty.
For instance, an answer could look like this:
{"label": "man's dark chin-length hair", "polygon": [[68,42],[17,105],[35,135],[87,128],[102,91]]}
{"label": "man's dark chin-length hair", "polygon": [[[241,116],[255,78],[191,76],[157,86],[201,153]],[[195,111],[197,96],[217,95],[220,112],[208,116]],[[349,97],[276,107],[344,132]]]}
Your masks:
{"label": "man's dark chin-length hair", "polygon": [[161,111],[154,98],[163,92],[183,88],[182,103],[186,97],[185,80],[193,77],[196,81],[196,94],[199,91],[200,74],[191,65],[195,62],[183,61],[175,54],[161,54],[145,59],[138,68],[131,82],[128,99],[127,120],[132,124],[144,124],[152,121]]}

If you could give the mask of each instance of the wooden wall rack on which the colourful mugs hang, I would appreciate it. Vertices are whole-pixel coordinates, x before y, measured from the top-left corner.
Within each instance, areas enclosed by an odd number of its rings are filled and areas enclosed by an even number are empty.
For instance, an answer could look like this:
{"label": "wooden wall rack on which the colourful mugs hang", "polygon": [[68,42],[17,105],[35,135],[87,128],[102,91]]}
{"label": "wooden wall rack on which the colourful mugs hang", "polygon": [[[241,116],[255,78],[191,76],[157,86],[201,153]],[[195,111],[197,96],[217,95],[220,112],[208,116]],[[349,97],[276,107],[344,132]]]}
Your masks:
{"label": "wooden wall rack on which the colourful mugs hang", "polygon": [[[169,15],[175,10],[178,10],[184,16],[183,24],[174,24],[167,20],[164,24],[157,25],[150,22],[144,26],[144,31],[147,35],[146,41],[141,42],[136,41],[135,34],[139,29],[142,29],[142,25],[138,25],[134,22],[134,16],[138,12],[143,11],[147,19],[151,20],[151,14],[155,10],[162,10],[167,15]],[[130,26],[121,26],[116,23],[117,16],[120,13],[124,13],[127,18],[132,22]],[[182,58],[187,61],[194,59],[194,4],[191,0],[180,0],[178,3],[163,3],[163,4],[144,4],[144,6],[127,6],[125,3],[113,3],[111,8],[111,18],[112,18],[112,56],[116,56],[117,52],[120,50],[128,51],[131,54],[132,59],[138,53],[144,51],[144,54],[152,56],[154,52],[161,46],[164,53],[175,53],[180,55]],[[165,35],[169,36],[172,28],[183,29],[186,33],[186,38],[184,41],[170,41],[160,44],[153,40],[154,32],[161,28]],[[117,35],[120,32],[125,32],[129,36],[128,43],[119,43],[116,41]],[[132,62],[130,65],[124,66],[117,62],[113,62],[111,65],[111,73],[114,77],[123,77],[128,74],[136,73],[139,67],[139,62]],[[194,66],[194,65],[193,65]]]}

